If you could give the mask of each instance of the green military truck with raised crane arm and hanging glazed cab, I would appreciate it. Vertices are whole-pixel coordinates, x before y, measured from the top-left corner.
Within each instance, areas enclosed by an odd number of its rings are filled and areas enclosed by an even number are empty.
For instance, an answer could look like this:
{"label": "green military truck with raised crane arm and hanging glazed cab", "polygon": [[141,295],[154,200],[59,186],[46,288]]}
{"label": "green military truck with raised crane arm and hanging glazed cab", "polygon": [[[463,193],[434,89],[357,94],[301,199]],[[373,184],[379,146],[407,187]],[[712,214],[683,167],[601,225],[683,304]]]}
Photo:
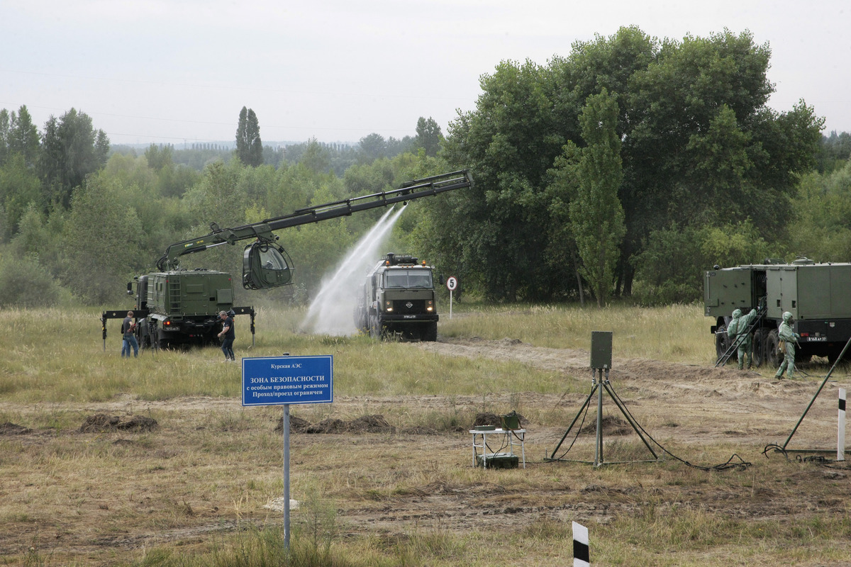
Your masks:
{"label": "green military truck with raised crane arm and hanging glazed cab", "polygon": [[[232,315],[249,315],[250,331],[254,342],[254,309],[235,307],[233,304],[233,278],[226,272],[208,269],[181,269],[180,258],[186,254],[203,252],[223,244],[235,245],[237,241],[253,240],[243,249],[243,287],[248,290],[288,286],[293,282],[294,266],[286,250],[277,244],[282,230],[300,224],[318,223],[330,218],[349,216],[375,207],[388,207],[407,203],[426,196],[472,186],[467,171],[443,173],[424,179],[414,179],[400,189],[381,191],[370,195],[352,197],[299,209],[283,217],[267,218],[259,223],[230,229],[220,229],[210,224],[211,232],[199,238],[175,242],[157,261],[157,271],[139,275],[127,285],[128,294],[134,297],[134,307],[104,311],[100,321],[106,349],[106,321],[123,319],[133,310],[138,325],[136,333],[140,346],[167,348],[176,345],[218,343],[220,311]],[[429,271],[431,277],[431,271]],[[433,294],[433,290],[432,290]],[[433,299],[432,299],[433,301]],[[435,319],[437,321],[437,319]],[[237,329],[239,326],[237,325]],[[435,333],[437,327],[435,327]],[[432,339],[434,340],[434,339]]]}

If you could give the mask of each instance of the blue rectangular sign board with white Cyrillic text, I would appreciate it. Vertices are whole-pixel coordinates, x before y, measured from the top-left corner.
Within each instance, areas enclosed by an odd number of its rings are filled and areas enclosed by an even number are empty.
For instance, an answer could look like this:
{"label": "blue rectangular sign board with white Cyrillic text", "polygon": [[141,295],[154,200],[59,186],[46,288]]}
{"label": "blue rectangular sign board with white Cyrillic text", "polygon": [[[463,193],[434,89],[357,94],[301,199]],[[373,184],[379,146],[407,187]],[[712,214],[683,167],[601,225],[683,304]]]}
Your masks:
{"label": "blue rectangular sign board with white Cyrillic text", "polygon": [[333,401],[331,356],[243,358],[243,405],[328,404]]}

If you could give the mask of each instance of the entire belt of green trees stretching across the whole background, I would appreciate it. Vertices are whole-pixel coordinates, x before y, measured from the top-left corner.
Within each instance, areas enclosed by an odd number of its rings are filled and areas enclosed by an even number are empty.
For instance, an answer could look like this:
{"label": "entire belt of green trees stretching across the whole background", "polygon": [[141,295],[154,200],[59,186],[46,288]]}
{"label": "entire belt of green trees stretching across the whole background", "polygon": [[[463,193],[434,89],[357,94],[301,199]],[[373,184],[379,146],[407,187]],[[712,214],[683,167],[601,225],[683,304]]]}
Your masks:
{"label": "entire belt of green trees stretching across the whole background", "polygon": [[[675,41],[625,27],[545,65],[500,63],[445,137],[420,118],[415,136],[357,145],[272,148],[243,107],[233,149],[137,154],[111,149],[74,109],[41,132],[26,106],[3,110],[0,305],[126,302],[129,278],[211,222],[252,223],[460,168],[475,187],[412,203],[392,246],[488,301],[688,302],[713,264],[848,261],[851,137],[822,136],[803,100],[768,108],[769,60],[747,31]],[[281,235],[296,263],[291,300],[315,293],[378,215]],[[189,258],[241,269],[230,247]]]}

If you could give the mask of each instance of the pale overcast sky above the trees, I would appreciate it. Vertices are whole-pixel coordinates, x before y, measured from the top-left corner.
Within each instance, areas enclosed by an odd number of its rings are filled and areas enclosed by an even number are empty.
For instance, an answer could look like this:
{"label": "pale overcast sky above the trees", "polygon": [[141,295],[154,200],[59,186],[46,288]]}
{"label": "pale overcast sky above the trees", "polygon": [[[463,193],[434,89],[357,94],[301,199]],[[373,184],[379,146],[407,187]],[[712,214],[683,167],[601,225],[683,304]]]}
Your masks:
{"label": "pale overcast sky above the trees", "polygon": [[0,108],[43,131],[71,108],[113,144],[231,142],[254,110],[264,142],[447,133],[503,60],[545,65],[575,41],[726,27],[768,43],[769,105],[798,99],[851,132],[851,3],[714,0],[0,0]]}

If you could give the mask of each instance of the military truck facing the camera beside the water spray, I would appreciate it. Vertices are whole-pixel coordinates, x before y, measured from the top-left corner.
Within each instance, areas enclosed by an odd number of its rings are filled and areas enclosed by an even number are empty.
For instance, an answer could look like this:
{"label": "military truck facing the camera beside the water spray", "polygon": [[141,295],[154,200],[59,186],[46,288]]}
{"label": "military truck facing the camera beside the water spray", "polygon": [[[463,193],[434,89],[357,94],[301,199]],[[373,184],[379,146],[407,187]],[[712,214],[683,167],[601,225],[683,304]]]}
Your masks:
{"label": "military truck facing the camera beside the water spray", "polygon": [[355,325],[370,337],[437,341],[438,319],[432,268],[418,258],[388,253],[360,286]]}

